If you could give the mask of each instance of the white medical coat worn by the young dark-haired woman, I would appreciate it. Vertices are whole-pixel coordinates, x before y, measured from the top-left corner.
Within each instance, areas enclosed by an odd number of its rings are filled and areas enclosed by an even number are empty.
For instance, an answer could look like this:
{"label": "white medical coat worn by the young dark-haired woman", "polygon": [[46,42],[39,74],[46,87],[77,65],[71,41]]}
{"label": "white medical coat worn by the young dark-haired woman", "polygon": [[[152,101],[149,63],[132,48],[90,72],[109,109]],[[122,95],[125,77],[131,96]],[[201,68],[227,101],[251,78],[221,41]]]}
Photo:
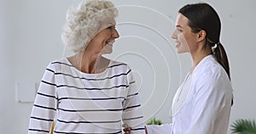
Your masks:
{"label": "white medical coat worn by the young dark-haired woman", "polygon": [[173,115],[172,124],[147,126],[148,134],[227,133],[232,87],[224,68],[208,55],[195,67],[190,84],[183,107]]}

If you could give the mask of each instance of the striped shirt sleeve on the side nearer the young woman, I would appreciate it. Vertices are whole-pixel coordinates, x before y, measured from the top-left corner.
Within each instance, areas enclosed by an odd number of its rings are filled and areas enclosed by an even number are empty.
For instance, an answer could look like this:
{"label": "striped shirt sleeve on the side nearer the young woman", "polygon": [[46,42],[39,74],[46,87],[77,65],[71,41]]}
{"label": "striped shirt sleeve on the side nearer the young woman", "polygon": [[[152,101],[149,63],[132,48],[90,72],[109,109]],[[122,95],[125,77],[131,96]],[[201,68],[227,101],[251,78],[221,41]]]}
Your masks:
{"label": "striped shirt sleeve on the side nearer the young woman", "polygon": [[139,93],[136,81],[130,71],[127,75],[129,89],[127,97],[123,103],[123,122],[131,126],[131,134],[145,133],[144,132],[144,122],[143,122],[143,111],[139,99]]}

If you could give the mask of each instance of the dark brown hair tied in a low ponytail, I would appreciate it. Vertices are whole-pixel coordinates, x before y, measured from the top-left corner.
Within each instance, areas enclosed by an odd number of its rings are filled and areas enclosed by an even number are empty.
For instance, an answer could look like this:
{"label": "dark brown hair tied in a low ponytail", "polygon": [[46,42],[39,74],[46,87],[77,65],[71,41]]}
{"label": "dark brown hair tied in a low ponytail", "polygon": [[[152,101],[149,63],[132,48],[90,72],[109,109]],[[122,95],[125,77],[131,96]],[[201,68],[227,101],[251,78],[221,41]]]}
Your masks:
{"label": "dark brown hair tied in a low ponytail", "polygon": [[213,55],[218,63],[224,67],[230,78],[229,60],[223,45],[219,42],[221,24],[217,12],[207,3],[193,3],[180,8],[178,13],[189,19],[188,25],[193,32],[196,33],[201,30],[207,32],[207,45],[210,47],[215,44],[218,45]]}

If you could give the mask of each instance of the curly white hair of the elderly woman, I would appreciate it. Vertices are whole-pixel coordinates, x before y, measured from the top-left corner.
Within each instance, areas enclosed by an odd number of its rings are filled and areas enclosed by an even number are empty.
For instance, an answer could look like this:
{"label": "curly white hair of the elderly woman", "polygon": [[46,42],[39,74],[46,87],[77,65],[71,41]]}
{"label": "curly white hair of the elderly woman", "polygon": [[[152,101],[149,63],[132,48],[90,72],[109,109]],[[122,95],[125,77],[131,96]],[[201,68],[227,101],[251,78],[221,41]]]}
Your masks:
{"label": "curly white hair of the elderly woman", "polygon": [[99,31],[100,23],[117,15],[118,10],[110,1],[84,0],[78,8],[67,11],[61,39],[74,53],[82,51]]}

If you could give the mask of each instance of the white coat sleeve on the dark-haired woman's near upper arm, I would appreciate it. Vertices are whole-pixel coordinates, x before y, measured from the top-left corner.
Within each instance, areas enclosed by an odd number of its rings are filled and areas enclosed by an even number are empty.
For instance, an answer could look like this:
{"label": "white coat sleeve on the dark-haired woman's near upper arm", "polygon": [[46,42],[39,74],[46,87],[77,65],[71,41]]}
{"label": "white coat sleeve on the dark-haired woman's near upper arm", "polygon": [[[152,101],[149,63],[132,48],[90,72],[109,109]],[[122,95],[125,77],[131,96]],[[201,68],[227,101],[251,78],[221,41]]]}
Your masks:
{"label": "white coat sleeve on the dark-haired woman's near upper arm", "polygon": [[215,120],[225,106],[224,84],[219,74],[205,73],[196,79],[191,122],[185,134],[212,134]]}

